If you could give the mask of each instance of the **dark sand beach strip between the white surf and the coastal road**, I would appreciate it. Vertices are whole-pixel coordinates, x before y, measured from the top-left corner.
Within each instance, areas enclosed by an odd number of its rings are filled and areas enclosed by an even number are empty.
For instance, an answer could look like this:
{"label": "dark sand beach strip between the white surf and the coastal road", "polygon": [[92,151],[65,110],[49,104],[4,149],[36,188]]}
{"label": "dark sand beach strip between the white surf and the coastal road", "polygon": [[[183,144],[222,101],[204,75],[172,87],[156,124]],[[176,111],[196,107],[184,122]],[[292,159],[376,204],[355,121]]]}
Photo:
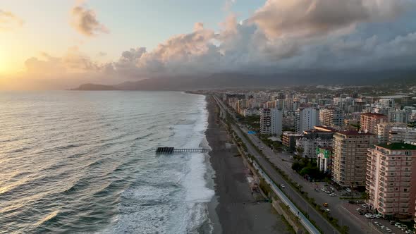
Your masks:
{"label": "dark sand beach strip between the white surf and the coastal road", "polygon": [[[235,149],[227,149],[229,140],[217,118],[216,105],[207,97],[209,125],[207,141],[212,148],[209,161],[215,171],[215,197],[209,205],[214,233],[288,233],[286,224],[270,203],[257,202],[247,181],[248,169]],[[214,213],[214,214],[213,214]]]}

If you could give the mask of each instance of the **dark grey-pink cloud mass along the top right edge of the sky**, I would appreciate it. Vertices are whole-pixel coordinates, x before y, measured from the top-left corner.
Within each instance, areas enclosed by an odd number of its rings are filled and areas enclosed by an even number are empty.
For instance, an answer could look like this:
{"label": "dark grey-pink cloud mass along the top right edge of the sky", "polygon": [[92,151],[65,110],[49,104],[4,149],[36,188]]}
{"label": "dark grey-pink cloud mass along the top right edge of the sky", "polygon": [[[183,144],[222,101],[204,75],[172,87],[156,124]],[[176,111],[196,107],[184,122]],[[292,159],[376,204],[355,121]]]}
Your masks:
{"label": "dark grey-pink cloud mass along the top right edge of the sky", "polygon": [[402,13],[404,0],[268,0],[250,20],[271,38],[311,37]]}

